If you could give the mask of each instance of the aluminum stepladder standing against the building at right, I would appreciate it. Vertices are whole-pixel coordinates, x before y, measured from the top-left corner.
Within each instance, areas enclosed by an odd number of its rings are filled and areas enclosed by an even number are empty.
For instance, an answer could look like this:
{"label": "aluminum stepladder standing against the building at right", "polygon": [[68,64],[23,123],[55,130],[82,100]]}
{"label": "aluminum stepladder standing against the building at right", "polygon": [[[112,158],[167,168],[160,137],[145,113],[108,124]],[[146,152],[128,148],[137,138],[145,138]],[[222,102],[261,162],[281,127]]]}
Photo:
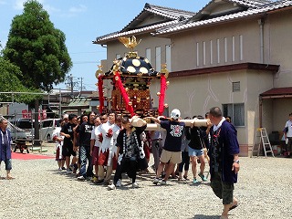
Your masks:
{"label": "aluminum stepladder standing against the building at right", "polygon": [[253,154],[254,154],[254,152],[257,152],[257,157],[258,157],[259,152],[260,152],[261,148],[263,147],[265,156],[266,156],[266,153],[271,152],[272,156],[275,157],[274,151],[272,150],[271,143],[270,143],[268,136],[267,136],[267,133],[266,133],[266,128],[258,128],[256,130],[256,137],[257,137],[257,140],[259,140],[260,142],[258,143],[257,149],[255,149],[256,143],[254,143]]}

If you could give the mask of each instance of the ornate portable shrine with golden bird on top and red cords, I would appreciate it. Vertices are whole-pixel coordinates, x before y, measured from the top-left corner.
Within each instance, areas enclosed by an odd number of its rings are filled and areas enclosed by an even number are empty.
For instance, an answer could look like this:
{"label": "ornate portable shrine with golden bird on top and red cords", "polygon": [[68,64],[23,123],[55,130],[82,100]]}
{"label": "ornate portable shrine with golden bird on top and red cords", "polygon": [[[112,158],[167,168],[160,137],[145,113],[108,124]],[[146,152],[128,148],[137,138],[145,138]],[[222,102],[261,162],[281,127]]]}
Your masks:
{"label": "ornate portable shrine with golden bird on top and red cords", "polygon": [[[161,72],[157,72],[151,67],[151,63],[146,57],[139,57],[137,52],[133,52],[133,48],[140,43],[136,41],[135,36],[131,38],[120,37],[119,40],[125,47],[130,48],[130,52],[125,57],[115,60],[110,71],[106,73],[103,73],[99,66],[99,70],[96,72],[99,90],[99,112],[112,110],[122,115],[140,115],[141,117],[162,115],[164,108],[168,107],[164,103],[165,90],[169,85],[169,82],[166,81],[169,74],[166,64],[162,65]],[[159,107],[158,110],[153,110],[149,88],[151,80],[158,78],[161,80],[161,90],[157,93]],[[111,97],[108,99],[111,109],[104,106],[104,79],[110,79],[110,83],[113,85]]]}

